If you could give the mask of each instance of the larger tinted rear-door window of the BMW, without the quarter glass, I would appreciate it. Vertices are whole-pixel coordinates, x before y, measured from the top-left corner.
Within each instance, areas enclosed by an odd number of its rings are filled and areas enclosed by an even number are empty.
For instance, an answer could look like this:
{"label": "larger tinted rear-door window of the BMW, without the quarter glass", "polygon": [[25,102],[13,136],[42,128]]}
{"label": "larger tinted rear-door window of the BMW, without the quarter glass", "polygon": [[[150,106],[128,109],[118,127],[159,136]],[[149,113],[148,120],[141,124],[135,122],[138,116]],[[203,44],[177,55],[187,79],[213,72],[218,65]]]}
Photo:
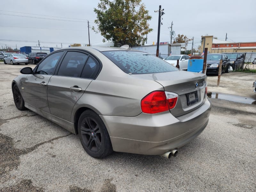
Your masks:
{"label": "larger tinted rear-door window of the BMW, without the quarter glass", "polygon": [[80,77],[87,58],[88,55],[81,52],[68,52],[61,62],[57,75]]}

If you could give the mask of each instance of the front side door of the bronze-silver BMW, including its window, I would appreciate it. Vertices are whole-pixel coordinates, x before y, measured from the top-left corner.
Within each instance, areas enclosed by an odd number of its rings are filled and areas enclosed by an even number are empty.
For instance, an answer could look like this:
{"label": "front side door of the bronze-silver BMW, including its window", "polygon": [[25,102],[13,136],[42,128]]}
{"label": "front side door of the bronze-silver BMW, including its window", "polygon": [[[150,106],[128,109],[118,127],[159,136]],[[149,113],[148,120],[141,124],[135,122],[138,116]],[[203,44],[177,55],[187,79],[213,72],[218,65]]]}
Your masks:
{"label": "front side door of the bronze-silver BMW, including its window", "polygon": [[47,102],[47,84],[51,79],[64,51],[50,54],[28,75],[21,90],[23,99],[29,105],[50,113]]}

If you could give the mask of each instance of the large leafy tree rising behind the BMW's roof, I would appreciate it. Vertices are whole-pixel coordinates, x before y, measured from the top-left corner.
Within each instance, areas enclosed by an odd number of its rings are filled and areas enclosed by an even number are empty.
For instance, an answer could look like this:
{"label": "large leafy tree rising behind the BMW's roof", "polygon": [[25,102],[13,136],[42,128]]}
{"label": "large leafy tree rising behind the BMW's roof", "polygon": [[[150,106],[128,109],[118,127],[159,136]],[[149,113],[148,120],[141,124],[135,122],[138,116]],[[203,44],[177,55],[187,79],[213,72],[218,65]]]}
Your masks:
{"label": "large leafy tree rising behind the BMW's roof", "polygon": [[[100,0],[98,9],[94,8],[103,42],[113,41],[115,46],[124,44],[144,45],[146,35],[153,29],[149,28],[148,10],[141,0]],[[92,27],[94,31],[96,29]]]}

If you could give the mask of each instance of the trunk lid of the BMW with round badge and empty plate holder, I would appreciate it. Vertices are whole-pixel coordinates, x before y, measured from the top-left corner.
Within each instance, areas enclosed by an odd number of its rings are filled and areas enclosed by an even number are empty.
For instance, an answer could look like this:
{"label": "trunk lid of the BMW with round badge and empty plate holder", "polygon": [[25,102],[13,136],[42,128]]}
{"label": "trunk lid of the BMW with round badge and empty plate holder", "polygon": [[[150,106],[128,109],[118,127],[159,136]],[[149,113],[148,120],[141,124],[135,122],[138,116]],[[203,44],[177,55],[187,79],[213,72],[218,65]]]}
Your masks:
{"label": "trunk lid of the BMW with round badge and empty plate holder", "polygon": [[131,75],[137,78],[152,79],[164,87],[164,91],[178,94],[176,107],[170,112],[173,116],[185,115],[199,108],[205,100],[206,75],[187,71]]}

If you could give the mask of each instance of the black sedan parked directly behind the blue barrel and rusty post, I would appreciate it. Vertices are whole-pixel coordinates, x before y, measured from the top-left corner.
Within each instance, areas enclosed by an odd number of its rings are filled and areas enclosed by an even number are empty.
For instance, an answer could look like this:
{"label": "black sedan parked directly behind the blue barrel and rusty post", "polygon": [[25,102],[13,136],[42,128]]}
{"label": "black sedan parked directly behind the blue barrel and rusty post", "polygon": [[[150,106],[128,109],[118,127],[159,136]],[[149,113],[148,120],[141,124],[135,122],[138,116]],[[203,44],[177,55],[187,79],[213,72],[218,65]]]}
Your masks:
{"label": "black sedan parked directly behind the blue barrel and rusty post", "polygon": [[222,70],[221,72],[229,73],[230,71],[230,61],[226,54],[222,53],[208,53],[206,60],[206,74],[215,74],[218,75],[220,60],[222,60]]}

